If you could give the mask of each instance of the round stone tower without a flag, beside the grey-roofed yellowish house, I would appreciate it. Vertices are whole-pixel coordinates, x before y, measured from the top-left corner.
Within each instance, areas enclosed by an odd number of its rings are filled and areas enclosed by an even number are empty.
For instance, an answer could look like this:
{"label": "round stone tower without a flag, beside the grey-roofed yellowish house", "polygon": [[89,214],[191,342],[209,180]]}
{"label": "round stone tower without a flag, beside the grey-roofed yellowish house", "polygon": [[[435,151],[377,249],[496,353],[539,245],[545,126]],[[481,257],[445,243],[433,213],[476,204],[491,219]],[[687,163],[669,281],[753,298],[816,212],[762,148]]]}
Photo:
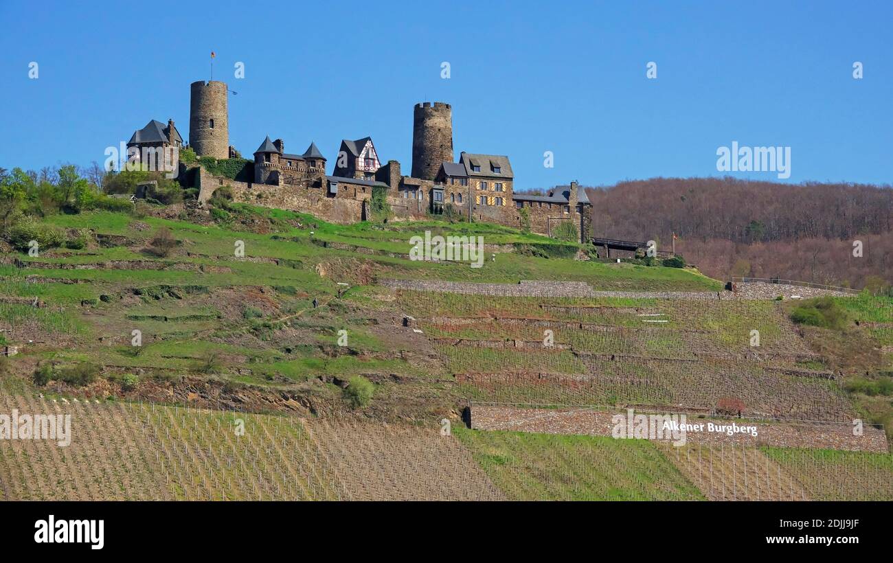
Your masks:
{"label": "round stone tower without a flag, beside the grey-roofed yellowish house", "polygon": [[413,178],[433,180],[453,161],[453,109],[449,103],[416,103],[413,112]]}

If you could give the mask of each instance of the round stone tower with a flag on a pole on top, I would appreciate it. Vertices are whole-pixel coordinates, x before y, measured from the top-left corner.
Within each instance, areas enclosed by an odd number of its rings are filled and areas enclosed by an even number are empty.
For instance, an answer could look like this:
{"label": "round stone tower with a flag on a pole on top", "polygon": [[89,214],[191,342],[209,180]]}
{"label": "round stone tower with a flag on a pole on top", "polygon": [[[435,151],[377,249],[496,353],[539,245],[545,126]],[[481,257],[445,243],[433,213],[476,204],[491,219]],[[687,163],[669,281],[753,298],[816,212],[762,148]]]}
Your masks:
{"label": "round stone tower with a flag on a pole on top", "polygon": [[198,80],[190,86],[189,146],[198,156],[230,157],[230,120],[227,86]]}

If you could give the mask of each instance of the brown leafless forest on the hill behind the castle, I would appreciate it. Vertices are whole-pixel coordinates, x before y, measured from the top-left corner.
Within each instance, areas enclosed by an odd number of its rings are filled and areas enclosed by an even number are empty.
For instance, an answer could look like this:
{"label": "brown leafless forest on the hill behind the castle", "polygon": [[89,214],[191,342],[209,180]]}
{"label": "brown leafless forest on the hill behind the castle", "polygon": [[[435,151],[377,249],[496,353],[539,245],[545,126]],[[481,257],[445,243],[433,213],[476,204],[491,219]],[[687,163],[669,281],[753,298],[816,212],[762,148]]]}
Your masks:
{"label": "brown leafless forest on the hill behind the castle", "polygon": [[893,281],[889,185],[651,178],[587,193],[596,236],[655,240],[668,249],[676,233],[676,252],[711,277],[872,288]]}

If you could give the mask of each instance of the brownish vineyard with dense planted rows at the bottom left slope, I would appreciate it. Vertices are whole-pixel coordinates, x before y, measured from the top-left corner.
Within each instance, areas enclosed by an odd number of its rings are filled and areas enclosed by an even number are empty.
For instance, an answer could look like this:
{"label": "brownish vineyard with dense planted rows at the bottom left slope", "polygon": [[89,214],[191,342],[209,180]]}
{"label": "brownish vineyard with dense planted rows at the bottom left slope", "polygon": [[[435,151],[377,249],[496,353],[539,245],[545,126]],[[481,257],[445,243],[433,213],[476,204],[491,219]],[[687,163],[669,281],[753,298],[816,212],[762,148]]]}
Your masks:
{"label": "brownish vineyard with dense planted rows at the bottom left slope", "polygon": [[502,498],[437,428],[0,395],[13,410],[71,415],[71,444],[0,441],[3,500]]}

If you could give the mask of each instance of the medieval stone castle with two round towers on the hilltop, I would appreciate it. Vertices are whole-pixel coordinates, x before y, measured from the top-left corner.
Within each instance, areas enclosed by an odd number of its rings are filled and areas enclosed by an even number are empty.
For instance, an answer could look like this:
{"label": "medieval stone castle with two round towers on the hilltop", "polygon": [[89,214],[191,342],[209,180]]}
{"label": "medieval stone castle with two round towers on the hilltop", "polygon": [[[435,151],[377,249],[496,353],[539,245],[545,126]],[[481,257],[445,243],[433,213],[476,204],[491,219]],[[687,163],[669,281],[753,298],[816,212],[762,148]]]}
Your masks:
{"label": "medieval stone castle with two round towers on the hilltop", "polygon": [[[188,146],[198,156],[216,159],[238,155],[229,142],[228,87],[219,81],[190,85]],[[149,144],[177,146],[182,139],[168,127],[150,121],[131,137],[128,147]],[[251,164],[249,162],[249,164]],[[369,219],[373,190],[384,191],[395,219],[425,219],[453,213],[551,235],[563,221],[572,221],[580,241],[588,239],[591,204],[576,182],[555,186],[547,195],[513,193],[513,171],[505,155],[460,153],[454,161],[453,109],[448,103],[417,103],[413,108],[411,175],[400,162],[382,164],[371,137],[344,139],[332,174],[315,143],[304,153],[286,153],[281,138],[268,136],[254,153],[253,170],[238,179],[213,176],[201,166],[180,165],[180,181],[199,189],[204,203],[221,186],[230,186],[236,201],[313,213],[322,219],[351,223]]]}

